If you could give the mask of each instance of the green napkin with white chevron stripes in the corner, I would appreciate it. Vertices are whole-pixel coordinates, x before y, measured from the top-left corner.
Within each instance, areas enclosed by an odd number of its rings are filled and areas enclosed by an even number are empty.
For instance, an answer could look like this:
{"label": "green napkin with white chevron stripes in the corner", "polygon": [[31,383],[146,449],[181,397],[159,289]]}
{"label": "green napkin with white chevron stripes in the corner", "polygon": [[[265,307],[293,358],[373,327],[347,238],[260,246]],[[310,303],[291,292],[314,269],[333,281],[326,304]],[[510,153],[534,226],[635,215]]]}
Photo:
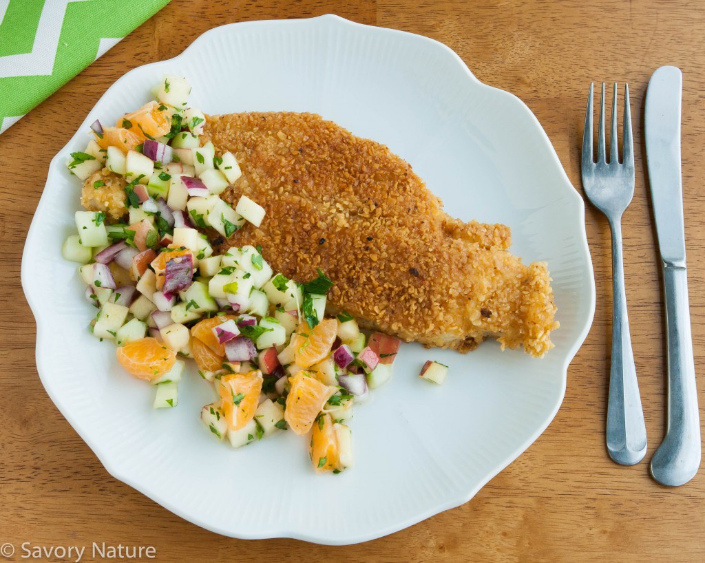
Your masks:
{"label": "green napkin with white chevron stripes in the corner", "polygon": [[0,133],[169,0],[0,0]]}

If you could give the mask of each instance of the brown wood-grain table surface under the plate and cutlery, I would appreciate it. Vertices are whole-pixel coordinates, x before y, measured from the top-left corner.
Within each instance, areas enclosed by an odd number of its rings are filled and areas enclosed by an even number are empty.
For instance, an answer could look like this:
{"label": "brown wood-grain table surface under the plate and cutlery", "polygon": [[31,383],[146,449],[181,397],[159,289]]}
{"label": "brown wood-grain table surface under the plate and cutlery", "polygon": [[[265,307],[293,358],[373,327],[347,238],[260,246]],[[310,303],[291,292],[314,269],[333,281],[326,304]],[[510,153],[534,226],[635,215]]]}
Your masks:
{"label": "brown wood-grain table surface under the plate and cutlery", "polygon": [[[608,225],[587,206],[597,309],[546,432],[467,504],[379,540],[321,547],[240,541],[197,528],[111,478],[54,407],[35,369],[35,323],[20,287],[27,228],[52,156],[125,71],[179,54],[216,25],[336,13],[446,43],[482,80],[524,100],[581,191],[589,82],[629,82],[637,185],[624,217],[632,337],[649,435],[637,466],[604,443],[611,320]],[[644,170],[644,94],[664,64],[684,75],[683,191],[695,361],[705,355],[705,5],[698,1],[173,0],[97,63],[0,136],[0,543],[152,545],[171,561],[705,560],[705,471],[670,489],[649,477],[664,431],[666,387],[660,270]],[[47,280],[51,283],[51,280]],[[700,383],[699,403],[705,404]],[[85,557],[83,560],[89,560]]]}

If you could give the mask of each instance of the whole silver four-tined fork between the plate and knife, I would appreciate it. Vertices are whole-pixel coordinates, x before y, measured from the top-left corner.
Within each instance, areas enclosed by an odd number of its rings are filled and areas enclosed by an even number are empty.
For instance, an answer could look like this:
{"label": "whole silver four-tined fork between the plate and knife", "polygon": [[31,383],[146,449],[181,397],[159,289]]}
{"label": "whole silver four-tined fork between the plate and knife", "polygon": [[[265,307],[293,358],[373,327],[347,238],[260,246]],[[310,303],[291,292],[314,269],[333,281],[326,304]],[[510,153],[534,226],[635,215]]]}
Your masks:
{"label": "whole silver four-tined fork between the plate and knife", "polygon": [[634,197],[634,149],[629,85],[625,85],[623,157],[620,163],[617,140],[617,83],[612,98],[610,161],[605,154],[605,83],[602,83],[597,162],[592,156],[592,94],[587,99],[582,137],[582,185],[587,197],[607,217],[612,231],[612,362],[607,403],[607,450],[622,465],[634,465],[646,454],[646,426],[642,412],[637,370],[627,318],[622,256],[622,214]]}

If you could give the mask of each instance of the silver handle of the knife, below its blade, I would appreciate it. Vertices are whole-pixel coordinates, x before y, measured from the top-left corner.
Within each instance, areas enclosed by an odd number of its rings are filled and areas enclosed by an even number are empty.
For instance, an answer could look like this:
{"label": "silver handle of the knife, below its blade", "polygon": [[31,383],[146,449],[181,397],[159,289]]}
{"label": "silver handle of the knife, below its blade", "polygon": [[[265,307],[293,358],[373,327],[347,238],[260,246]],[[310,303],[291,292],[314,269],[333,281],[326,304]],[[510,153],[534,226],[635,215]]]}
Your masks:
{"label": "silver handle of the knife, below its blade", "polygon": [[690,481],[700,466],[700,421],[690,335],[685,266],[663,266],[668,342],[666,438],[651,458],[651,475],[663,485]]}

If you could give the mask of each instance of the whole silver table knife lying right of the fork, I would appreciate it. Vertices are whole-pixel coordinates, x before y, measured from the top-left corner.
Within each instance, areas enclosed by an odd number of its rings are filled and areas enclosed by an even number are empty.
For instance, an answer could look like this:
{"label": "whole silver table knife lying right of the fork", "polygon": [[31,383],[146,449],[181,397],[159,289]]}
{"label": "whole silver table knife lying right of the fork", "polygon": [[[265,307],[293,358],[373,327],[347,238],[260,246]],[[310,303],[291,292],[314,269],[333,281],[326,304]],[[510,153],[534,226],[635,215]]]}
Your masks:
{"label": "whole silver table knife lying right of the fork", "polygon": [[683,77],[662,66],[646,89],[646,162],[661,251],[668,339],[668,424],[651,475],[663,485],[690,481],[700,466],[700,421],[690,335],[680,182],[680,103]]}

